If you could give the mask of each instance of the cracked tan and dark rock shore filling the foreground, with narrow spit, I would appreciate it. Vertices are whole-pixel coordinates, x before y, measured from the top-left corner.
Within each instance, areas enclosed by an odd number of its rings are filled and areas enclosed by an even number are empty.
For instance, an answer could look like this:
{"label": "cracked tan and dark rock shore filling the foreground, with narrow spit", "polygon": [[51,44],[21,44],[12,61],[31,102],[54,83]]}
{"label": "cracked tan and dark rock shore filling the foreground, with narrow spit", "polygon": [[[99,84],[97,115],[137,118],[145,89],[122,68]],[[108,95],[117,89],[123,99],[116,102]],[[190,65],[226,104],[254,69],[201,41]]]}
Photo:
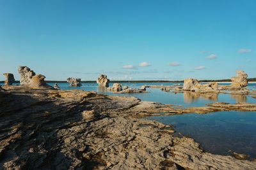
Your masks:
{"label": "cracked tan and dark rock shore filling the foreground, with narrow spit", "polygon": [[[141,117],[256,104],[176,108],[83,90],[4,86],[0,92],[1,169],[255,169],[256,162],[204,152],[170,125]],[[239,157],[237,157],[239,158]]]}

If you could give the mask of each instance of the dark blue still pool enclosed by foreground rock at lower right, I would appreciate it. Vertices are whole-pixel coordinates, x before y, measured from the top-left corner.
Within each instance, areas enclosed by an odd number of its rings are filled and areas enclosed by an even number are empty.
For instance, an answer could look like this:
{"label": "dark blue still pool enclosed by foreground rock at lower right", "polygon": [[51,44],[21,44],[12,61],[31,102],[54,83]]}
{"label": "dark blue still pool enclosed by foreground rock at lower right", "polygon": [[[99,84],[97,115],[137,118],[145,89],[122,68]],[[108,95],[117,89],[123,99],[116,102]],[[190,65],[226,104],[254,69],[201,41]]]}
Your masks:
{"label": "dark blue still pool enclosed by foreground rock at lower right", "polygon": [[150,117],[190,136],[207,152],[228,155],[229,150],[256,158],[256,112],[220,111]]}

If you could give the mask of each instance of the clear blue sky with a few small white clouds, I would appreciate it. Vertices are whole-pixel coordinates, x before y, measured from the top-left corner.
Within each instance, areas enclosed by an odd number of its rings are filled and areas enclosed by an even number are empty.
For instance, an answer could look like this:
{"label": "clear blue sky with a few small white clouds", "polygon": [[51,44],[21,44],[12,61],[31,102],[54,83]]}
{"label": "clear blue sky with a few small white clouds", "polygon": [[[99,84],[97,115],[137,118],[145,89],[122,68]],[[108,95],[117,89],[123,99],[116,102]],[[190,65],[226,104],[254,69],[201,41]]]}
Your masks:
{"label": "clear blue sky with a few small white clouds", "polygon": [[[46,80],[256,77],[254,0],[0,0],[0,73]],[[4,76],[0,76],[4,80]]]}

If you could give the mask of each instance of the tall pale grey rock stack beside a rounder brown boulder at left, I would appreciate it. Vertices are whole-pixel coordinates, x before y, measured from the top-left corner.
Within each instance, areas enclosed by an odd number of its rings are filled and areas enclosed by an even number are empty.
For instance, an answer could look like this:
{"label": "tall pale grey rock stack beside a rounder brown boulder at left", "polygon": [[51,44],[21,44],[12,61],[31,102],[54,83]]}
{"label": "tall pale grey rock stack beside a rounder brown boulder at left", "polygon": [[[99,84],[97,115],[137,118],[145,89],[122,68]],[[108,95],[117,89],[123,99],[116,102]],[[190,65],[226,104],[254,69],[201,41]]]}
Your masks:
{"label": "tall pale grey rock stack beside a rounder brown boulder at left", "polygon": [[19,66],[18,71],[20,74],[20,85],[29,85],[31,78],[36,74],[27,66]]}

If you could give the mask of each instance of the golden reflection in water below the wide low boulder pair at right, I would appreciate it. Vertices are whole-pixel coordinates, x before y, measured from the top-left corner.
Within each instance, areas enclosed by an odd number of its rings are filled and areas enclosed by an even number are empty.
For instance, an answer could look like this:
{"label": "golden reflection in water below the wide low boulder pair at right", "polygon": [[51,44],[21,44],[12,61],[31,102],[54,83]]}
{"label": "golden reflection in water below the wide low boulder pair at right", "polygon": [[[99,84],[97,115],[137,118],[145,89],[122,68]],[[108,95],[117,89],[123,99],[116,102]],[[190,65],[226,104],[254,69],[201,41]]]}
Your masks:
{"label": "golden reflection in water below the wide low boulder pair at right", "polygon": [[183,97],[184,97],[185,103],[195,103],[200,98],[207,99],[214,102],[218,101],[218,94],[214,94],[214,93],[199,94],[195,92],[184,92]]}

